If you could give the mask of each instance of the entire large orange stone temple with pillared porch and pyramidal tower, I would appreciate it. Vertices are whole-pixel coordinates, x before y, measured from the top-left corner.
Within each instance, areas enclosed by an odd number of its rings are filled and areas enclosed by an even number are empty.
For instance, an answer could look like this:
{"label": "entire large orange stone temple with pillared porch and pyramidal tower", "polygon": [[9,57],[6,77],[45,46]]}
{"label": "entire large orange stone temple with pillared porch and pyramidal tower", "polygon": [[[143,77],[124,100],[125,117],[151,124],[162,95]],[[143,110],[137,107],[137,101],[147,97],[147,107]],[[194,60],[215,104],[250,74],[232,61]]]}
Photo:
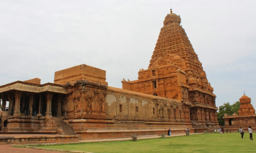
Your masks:
{"label": "entire large orange stone temple with pillared porch and pyramidal tower", "polygon": [[103,139],[170,128],[212,132],[216,96],[180,22],[172,10],[167,14],[148,69],[136,81],[123,80],[123,89],[108,86],[106,71],[85,64],[55,72],[54,83],[35,78],[0,86],[0,133]]}

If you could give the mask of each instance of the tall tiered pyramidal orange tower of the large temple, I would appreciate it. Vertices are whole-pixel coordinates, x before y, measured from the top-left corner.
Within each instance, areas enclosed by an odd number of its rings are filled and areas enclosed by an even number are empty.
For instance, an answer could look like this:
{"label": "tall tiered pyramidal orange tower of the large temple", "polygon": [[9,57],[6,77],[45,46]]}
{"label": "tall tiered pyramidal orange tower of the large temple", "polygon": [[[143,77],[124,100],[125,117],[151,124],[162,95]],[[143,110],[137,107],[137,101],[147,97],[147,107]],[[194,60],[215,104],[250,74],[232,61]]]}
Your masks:
{"label": "tall tiered pyramidal orange tower of the large temple", "polygon": [[195,124],[218,126],[216,95],[180,23],[180,16],[171,9],[148,69],[139,70],[138,80],[123,80],[122,88],[190,103],[190,119]]}

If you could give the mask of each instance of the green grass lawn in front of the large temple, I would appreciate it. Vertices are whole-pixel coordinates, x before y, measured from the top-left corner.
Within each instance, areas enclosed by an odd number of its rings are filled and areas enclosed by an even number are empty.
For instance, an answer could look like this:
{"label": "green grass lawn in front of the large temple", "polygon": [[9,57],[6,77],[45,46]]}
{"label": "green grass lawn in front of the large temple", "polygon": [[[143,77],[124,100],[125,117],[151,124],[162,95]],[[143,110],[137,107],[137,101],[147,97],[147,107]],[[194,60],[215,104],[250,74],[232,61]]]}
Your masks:
{"label": "green grass lawn in front of the large temple", "polygon": [[[172,142],[172,143],[171,143]],[[88,142],[39,146],[93,153],[256,153],[256,138],[249,133],[207,133],[138,141]]]}

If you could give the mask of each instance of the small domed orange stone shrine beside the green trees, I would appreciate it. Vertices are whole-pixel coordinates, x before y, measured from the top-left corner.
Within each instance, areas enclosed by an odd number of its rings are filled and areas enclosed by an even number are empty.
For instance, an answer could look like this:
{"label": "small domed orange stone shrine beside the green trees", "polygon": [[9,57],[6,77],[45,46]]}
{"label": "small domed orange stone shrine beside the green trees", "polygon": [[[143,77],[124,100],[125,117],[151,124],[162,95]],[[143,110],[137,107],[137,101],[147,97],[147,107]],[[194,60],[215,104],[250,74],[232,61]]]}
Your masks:
{"label": "small domed orange stone shrine beside the green trees", "polygon": [[239,99],[240,108],[238,114],[234,113],[233,115],[225,114],[223,119],[225,121],[225,129],[228,129],[233,132],[242,127],[244,131],[248,131],[248,127],[256,126],[256,115],[255,109],[251,104],[251,99],[245,94]]}

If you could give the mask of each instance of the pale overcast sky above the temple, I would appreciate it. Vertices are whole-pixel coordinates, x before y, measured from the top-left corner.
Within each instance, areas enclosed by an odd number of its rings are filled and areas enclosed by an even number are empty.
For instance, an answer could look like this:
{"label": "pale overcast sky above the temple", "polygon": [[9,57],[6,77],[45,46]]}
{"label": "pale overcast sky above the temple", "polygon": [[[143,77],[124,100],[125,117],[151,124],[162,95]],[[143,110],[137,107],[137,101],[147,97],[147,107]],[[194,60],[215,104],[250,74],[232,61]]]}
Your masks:
{"label": "pale overcast sky above the temple", "polygon": [[79,64],[106,70],[109,86],[147,69],[166,14],[180,15],[216,105],[246,91],[256,107],[255,0],[1,0],[0,85]]}

